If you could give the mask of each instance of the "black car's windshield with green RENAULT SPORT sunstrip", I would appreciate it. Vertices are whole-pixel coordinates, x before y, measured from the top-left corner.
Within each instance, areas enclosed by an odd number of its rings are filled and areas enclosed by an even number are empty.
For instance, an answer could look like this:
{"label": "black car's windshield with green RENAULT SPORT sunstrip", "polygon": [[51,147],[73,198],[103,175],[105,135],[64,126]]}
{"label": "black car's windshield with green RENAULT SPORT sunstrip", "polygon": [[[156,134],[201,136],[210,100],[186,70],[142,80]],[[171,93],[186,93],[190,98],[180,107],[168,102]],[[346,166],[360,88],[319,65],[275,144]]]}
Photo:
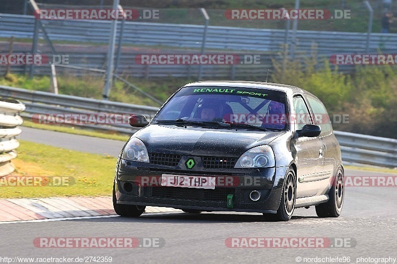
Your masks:
{"label": "black car's windshield with green RENAULT SPORT sunstrip", "polygon": [[161,109],[153,123],[221,122],[242,129],[255,126],[285,130],[288,109],[286,102],[286,94],[280,91],[240,87],[185,87]]}

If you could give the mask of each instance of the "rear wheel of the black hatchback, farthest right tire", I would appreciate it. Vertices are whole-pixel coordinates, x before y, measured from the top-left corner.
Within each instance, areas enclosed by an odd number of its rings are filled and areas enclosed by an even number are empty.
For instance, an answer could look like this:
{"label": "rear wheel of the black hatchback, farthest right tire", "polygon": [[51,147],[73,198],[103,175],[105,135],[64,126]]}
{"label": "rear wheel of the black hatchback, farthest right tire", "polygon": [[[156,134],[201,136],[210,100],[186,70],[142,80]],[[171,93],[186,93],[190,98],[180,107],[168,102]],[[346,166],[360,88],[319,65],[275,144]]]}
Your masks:
{"label": "rear wheel of the black hatchback, farthest right tire", "polygon": [[339,217],[344,201],[344,172],[341,167],[338,168],[328,195],[330,200],[316,206],[316,213],[319,217]]}

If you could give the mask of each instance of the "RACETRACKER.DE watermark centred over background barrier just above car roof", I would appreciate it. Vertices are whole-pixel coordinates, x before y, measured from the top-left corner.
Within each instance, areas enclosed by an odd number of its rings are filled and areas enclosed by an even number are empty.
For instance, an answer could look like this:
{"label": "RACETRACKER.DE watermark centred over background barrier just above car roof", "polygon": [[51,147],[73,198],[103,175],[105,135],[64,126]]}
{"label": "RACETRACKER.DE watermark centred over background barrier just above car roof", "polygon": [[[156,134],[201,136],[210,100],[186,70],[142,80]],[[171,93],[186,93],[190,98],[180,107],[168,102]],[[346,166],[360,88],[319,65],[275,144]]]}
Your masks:
{"label": "RACETRACKER.DE watermark centred over background barrier just above car roof", "polygon": [[261,64],[260,54],[137,54],[136,64]]}

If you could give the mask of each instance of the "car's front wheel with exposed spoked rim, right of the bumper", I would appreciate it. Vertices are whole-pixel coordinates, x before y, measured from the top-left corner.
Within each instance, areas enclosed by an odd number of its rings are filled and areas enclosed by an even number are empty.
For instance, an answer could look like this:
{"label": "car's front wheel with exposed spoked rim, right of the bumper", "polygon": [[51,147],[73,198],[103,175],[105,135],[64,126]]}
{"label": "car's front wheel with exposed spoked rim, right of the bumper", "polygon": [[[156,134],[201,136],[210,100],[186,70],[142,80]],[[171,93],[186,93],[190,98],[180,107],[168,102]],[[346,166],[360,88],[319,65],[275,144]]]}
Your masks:
{"label": "car's front wheel with exposed spoked rim, right of the bumper", "polygon": [[285,176],[280,206],[277,213],[264,213],[265,220],[268,221],[288,221],[295,210],[296,202],[296,175],[292,167],[288,169]]}

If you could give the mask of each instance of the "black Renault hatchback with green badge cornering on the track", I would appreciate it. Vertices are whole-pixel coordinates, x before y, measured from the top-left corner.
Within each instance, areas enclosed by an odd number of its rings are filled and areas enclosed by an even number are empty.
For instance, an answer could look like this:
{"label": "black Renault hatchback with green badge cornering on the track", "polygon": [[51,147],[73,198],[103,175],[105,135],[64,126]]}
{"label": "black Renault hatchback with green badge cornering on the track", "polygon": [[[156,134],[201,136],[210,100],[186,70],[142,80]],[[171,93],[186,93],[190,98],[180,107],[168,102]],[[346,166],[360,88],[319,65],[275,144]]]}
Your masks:
{"label": "black Renault hatchback with green badge cornering on the track", "polygon": [[340,215],[344,172],[325,106],[282,84],[205,81],[180,88],[126,143],[113,205],[121,216],[145,206],[261,212],[288,221],[295,208]]}

